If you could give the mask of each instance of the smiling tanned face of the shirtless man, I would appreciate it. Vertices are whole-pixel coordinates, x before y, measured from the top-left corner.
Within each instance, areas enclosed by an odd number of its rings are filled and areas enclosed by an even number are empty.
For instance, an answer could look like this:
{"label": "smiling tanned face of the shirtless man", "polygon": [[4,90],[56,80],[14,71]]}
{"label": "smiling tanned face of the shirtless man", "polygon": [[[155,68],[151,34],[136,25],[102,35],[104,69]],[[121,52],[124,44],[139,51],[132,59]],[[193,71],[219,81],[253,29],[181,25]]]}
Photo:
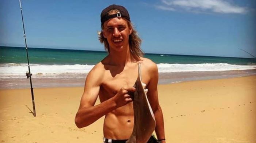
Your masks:
{"label": "smiling tanned face of the shirtless man", "polygon": [[110,50],[120,51],[129,45],[132,29],[125,19],[115,17],[104,23],[103,36],[107,39]]}

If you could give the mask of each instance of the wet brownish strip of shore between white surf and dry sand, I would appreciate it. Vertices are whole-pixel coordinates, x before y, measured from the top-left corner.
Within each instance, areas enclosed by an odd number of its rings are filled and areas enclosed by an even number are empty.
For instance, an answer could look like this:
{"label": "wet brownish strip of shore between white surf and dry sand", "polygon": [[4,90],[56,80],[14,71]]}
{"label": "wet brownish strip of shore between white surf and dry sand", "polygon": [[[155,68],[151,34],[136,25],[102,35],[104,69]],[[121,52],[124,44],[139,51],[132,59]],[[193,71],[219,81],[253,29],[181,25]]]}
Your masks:
{"label": "wet brownish strip of shore between white surf and dry sand", "polygon": [[[185,81],[200,81],[209,79],[225,79],[234,77],[247,77],[256,75],[256,70],[230,70],[217,72],[173,72],[159,73],[158,85],[179,83]],[[33,88],[47,87],[84,87],[86,74],[77,74],[77,78],[33,78]],[[30,81],[24,78],[0,79],[1,89],[27,89],[30,88]]]}

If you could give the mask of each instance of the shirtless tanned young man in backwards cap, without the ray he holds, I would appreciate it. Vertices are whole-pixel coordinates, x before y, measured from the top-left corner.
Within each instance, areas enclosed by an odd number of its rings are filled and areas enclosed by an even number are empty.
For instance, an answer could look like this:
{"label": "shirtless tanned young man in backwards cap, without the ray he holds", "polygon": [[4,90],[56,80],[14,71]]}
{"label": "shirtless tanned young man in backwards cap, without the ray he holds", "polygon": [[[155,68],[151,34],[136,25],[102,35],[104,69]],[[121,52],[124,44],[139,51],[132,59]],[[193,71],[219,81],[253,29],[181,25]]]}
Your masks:
{"label": "shirtless tanned young man in backwards cap, without the ray he holds", "polygon": [[[141,64],[142,82],[148,89],[148,100],[155,119],[155,132],[161,143],[165,143],[164,120],[158,103],[157,65],[143,58],[141,40],[130,22],[128,11],[120,5],[110,5],[101,13],[102,32],[100,42],[108,55],[88,73],[75,123],[79,128],[89,126],[105,115],[103,134],[108,139],[127,140],[134,124],[133,99],[131,93]],[[95,105],[96,99],[100,104]]]}

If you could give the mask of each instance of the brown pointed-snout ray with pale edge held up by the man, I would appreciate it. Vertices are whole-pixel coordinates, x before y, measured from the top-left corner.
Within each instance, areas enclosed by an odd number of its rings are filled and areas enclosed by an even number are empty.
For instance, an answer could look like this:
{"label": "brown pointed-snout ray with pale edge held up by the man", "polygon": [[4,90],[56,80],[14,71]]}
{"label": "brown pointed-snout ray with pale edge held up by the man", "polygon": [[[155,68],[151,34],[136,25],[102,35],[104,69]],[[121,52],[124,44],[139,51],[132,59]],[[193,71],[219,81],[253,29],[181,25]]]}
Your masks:
{"label": "brown pointed-snout ray with pale edge held up by the man", "polygon": [[156,119],[142,85],[140,64],[134,87],[136,88],[133,99],[134,126],[126,143],[146,143],[156,127]]}

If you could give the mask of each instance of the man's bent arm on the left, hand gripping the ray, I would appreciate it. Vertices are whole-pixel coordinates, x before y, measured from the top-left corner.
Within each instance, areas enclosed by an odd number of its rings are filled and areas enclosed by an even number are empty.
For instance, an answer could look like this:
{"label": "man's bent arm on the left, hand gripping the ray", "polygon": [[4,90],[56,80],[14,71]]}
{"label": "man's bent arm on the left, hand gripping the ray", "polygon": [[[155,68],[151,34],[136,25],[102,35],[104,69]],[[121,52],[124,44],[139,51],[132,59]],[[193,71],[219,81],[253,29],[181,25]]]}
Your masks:
{"label": "man's bent arm on the left, hand gripping the ray", "polygon": [[135,91],[134,87],[121,88],[114,97],[94,106],[103,75],[103,70],[97,69],[96,66],[88,73],[85,81],[84,93],[75,118],[78,128],[86,127],[112,110],[131,102],[132,99],[128,92]]}

